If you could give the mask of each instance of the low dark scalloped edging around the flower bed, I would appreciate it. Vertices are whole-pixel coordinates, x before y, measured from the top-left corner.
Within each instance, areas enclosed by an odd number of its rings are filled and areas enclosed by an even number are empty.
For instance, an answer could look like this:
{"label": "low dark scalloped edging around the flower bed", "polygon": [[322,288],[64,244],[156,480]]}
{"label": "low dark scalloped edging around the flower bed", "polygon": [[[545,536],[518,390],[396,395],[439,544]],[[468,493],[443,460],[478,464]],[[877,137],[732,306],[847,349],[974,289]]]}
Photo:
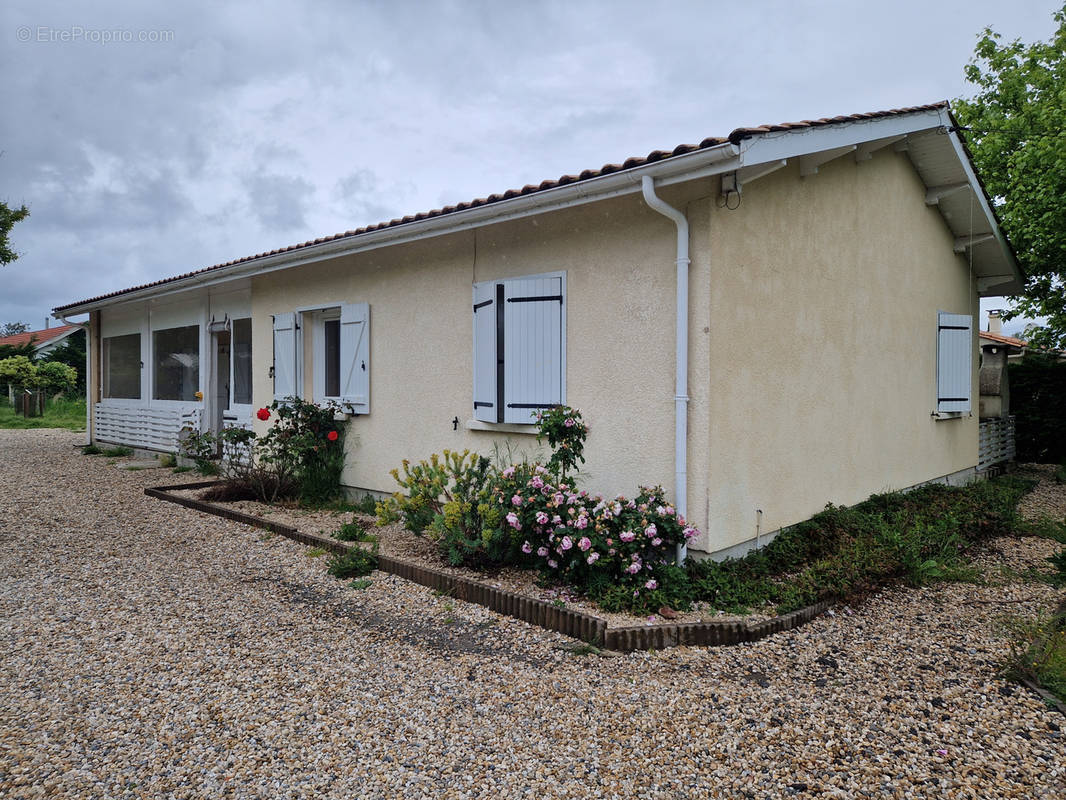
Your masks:
{"label": "low dark scalloped edging around the flower bed", "polygon": [[[152,486],[145,489],[144,493],[148,497],[184,506],[205,514],[214,514],[215,516],[237,523],[262,528],[287,539],[301,542],[302,544],[322,547],[332,553],[342,554],[346,553],[350,547],[357,546],[356,543],[340,542],[328,537],[320,537],[317,533],[305,533],[288,525],[274,523],[259,516],[245,514],[241,511],[233,511],[232,509],[225,509],[210,502],[205,502],[204,500],[177,497],[171,494],[172,492],[181,490],[207,489],[220,482],[199,481],[196,483]],[[711,646],[755,642],[768,636],[779,634],[784,630],[791,630],[810,622],[815,617],[824,613],[835,603],[831,599],[822,601],[812,606],[807,606],[797,611],[775,617],[763,622],[690,622],[629,625],[609,628],[607,621],[598,617],[593,617],[581,611],[571,611],[568,608],[560,608],[545,601],[526,597],[514,592],[497,589],[487,583],[470,580],[458,575],[450,575],[439,570],[404,561],[392,556],[379,555],[377,557],[377,569],[404,580],[409,580],[413,583],[435,589],[441,594],[447,594],[455,599],[477,603],[491,611],[514,617],[531,625],[537,625],[575,639],[581,639],[604,650],[623,653],[635,650],[664,650],[680,645]]]}

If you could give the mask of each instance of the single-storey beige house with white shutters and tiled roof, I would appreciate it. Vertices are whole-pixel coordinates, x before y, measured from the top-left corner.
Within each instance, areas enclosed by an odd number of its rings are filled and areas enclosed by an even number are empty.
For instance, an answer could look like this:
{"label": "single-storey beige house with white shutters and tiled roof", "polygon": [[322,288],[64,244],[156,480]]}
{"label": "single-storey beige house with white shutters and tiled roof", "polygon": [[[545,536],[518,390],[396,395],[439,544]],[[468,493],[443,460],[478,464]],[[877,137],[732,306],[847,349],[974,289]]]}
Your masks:
{"label": "single-storey beige house with white shutters and tiled roof", "polygon": [[978,302],[1021,279],[941,102],[741,128],[54,313],[90,315],[94,439],[173,450],[332,398],[343,482],[386,492],[402,459],[532,452],[532,412],[566,403],[585,485],[662,483],[725,555],[972,479]]}

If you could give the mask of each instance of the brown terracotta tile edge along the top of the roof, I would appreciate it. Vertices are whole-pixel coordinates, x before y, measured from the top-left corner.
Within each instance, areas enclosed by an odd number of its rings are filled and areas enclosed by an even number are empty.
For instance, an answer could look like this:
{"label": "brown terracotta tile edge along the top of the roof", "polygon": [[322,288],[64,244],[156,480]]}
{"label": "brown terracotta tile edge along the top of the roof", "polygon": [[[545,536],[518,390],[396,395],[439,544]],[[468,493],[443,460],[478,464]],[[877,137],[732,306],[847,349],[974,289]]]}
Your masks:
{"label": "brown terracotta tile edge along the top of the roof", "polygon": [[903,108],[903,109],[891,109],[889,111],[874,111],[862,114],[849,114],[845,116],[823,117],[821,119],[805,119],[798,123],[779,123],[777,125],[760,125],[754,128],[737,128],[725,139],[720,137],[708,137],[707,139],[700,141],[699,144],[679,144],[672,150],[652,150],[647,156],[643,157],[634,156],[632,158],[628,158],[620,164],[608,163],[603,164],[598,170],[582,170],[577,175],[563,175],[553,180],[552,179],[544,180],[537,186],[527,183],[521,189],[518,190],[512,189],[506,192],[503,192],[502,194],[501,193],[490,194],[487,197],[479,197],[477,199],[469,201],[466,203],[457,203],[454,206],[445,206],[443,208],[434,209],[431,211],[422,211],[420,213],[407,215],[402,219],[390,220],[389,222],[381,222],[374,225],[366,225],[364,227],[356,228],[355,230],[345,230],[343,234],[335,234],[329,237],[314,239],[302,242],[300,244],[290,244],[287,247],[265,251],[263,253],[257,253],[256,255],[253,256],[244,256],[243,258],[236,258],[231,261],[224,261],[222,263],[216,263],[212,267],[205,267],[199,270],[184,272],[180,275],[175,275],[173,277],[152,281],[147,284],[141,284],[140,286],[133,286],[128,289],[120,289],[118,291],[112,291],[106,294],[98,294],[95,298],[79,300],[76,303],[67,303],[66,305],[56,306],[53,310],[62,311],[66,308],[72,308],[75,306],[84,305],[86,303],[94,303],[101,300],[108,300],[111,298],[118,297],[120,294],[128,294],[129,292],[139,291],[141,289],[148,289],[154,286],[160,286],[162,284],[169,284],[176,281],[182,281],[187,277],[192,277],[193,275],[199,275],[205,272],[221,270],[226,267],[236,267],[237,265],[247,263],[248,261],[254,261],[259,258],[266,258],[269,256],[278,255],[280,253],[291,253],[292,251],[302,250],[304,247],[311,247],[314,246],[316,244],[321,244],[326,241],[349,239],[361,236],[364,234],[369,234],[374,230],[382,230],[383,228],[399,227],[400,225],[406,225],[411,222],[427,220],[434,217],[442,217],[445,214],[457,213],[459,211],[465,211],[468,208],[479,208],[481,206],[486,206],[492,203],[500,203],[503,201],[511,199],[512,197],[516,197],[518,195],[533,194],[535,192],[544,192],[560,186],[576,183],[582,180],[589,180],[592,178],[597,178],[603,175],[611,175],[616,172],[621,172],[623,170],[632,170],[634,167],[643,166],[645,164],[652,163],[656,161],[662,161],[664,159],[674,158],[676,156],[682,156],[687,153],[693,153],[695,150],[706,149],[708,147],[715,147],[717,145],[725,144],[726,142],[738,144],[745,139],[750,139],[752,137],[760,135],[763,133],[795,130],[800,128],[817,128],[825,125],[836,125],[839,123],[857,122],[861,119],[873,119],[885,116],[899,116],[902,114],[911,114],[920,111],[939,110],[947,107],[948,103],[944,101],[944,102],[935,102],[927,106],[911,106],[909,108]]}

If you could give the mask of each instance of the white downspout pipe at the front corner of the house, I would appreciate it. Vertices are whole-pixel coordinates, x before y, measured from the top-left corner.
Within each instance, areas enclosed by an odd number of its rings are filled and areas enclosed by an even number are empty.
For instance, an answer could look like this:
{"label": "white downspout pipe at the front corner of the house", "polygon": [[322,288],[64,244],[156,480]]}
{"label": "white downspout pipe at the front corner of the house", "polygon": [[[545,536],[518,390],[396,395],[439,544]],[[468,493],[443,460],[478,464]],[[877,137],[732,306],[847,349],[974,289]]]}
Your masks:
{"label": "white downspout pipe at the front corner of the house", "polygon": [[[677,358],[674,383],[674,492],[677,513],[689,516],[689,220],[656,194],[656,181],[650,175],[641,178],[644,202],[677,226]],[[688,546],[677,545],[680,566],[688,556]]]}

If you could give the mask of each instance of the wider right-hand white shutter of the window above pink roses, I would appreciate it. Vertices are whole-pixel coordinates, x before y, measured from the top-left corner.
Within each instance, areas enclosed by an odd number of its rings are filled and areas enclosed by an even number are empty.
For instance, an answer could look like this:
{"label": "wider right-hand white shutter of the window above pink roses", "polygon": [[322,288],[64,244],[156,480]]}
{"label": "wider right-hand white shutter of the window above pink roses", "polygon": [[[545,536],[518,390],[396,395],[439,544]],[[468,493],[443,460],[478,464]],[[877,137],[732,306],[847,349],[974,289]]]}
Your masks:
{"label": "wider right-hand white shutter of the window above pink roses", "polygon": [[563,279],[503,282],[504,422],[563,402]]}

